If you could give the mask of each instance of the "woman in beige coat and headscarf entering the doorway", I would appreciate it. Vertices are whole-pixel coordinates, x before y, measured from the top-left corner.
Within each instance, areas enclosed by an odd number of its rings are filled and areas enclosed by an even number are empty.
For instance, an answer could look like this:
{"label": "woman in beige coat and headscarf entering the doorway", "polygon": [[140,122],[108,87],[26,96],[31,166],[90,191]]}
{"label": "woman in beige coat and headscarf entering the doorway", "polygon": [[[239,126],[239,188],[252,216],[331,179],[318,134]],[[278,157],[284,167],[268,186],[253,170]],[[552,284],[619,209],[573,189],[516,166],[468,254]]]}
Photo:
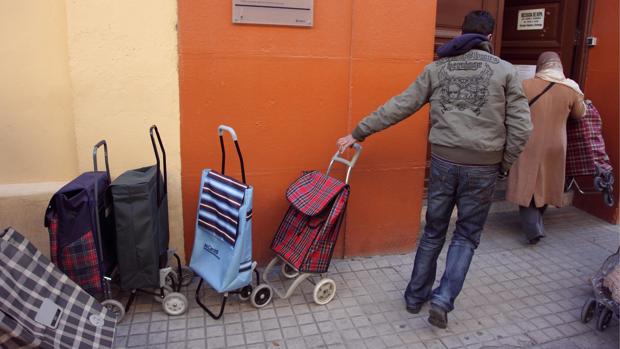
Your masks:
{"label": "woman in beige coat and headscarf entering the doorway", "polygon": [[506,200],[519,205],[521,226],[530,244],[545,236],[547,205],[562,207],[566,162],[566,120],[586,112],[579,85],[564,76],[560,56],[543,52],[536,75],[523,81],[534,130],[508,177]]}

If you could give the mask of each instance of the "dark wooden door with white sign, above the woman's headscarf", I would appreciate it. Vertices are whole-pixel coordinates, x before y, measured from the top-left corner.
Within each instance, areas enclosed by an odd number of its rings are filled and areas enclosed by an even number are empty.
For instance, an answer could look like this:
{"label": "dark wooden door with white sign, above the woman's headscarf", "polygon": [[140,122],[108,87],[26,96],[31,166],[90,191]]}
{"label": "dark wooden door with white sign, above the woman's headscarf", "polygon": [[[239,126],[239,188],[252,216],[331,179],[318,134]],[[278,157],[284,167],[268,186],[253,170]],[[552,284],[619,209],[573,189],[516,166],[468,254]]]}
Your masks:
{"label": "dark wooden door with white sign, above the woman's headscarf", "polygon": [[[578,0],[506,0],[501,57],[513,64],[535,65],[540,53],[555,51],[562,59],[564,74],[578,79],[573,67],[578,65],[579,8]],[[524,27],[527,15],[536,10],[544,13],[542,28]]]}

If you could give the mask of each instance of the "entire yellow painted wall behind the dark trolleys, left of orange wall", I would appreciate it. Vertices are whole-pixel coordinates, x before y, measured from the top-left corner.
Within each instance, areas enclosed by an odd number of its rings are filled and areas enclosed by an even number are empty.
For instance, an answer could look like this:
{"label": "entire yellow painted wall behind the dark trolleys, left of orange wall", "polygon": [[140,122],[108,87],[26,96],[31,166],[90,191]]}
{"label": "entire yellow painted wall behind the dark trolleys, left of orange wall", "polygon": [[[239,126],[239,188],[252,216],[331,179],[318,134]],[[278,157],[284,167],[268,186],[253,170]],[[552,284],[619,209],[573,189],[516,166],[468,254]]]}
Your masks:
{"label": "entire yellow painted wall behind the dark trolleys, left of orange wall", "polygon": [[183,255],[176,22],[176,1],[0,0],[0,229],[48,254],[47,199],[92,169],[102,138],[113,178],[155,163],[157,124]]}

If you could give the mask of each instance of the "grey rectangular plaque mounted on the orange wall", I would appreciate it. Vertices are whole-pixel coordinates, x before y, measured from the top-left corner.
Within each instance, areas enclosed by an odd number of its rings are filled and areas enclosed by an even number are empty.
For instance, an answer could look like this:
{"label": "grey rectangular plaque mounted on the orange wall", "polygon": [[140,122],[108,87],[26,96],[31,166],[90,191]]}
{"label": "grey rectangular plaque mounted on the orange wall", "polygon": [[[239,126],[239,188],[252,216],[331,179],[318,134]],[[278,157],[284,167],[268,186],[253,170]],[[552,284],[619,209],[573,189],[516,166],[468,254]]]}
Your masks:
{"label": "grey rectangular plaque mounted on the orange wall", "polygon": [[233,0],[233,23],[312,27],[314,0]]}

